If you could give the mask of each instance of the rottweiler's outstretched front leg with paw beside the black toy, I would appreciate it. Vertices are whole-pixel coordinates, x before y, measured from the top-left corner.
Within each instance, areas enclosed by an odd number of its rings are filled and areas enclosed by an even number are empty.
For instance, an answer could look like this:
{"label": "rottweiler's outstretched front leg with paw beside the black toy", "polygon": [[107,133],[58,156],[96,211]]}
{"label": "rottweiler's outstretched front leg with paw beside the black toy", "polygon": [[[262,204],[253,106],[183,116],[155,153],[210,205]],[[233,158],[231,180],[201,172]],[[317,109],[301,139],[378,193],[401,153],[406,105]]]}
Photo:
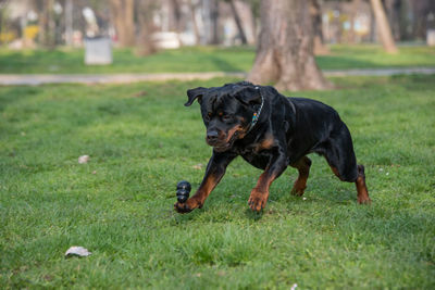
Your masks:
{"label": "rottweiler's outstretched front leg with paw beside the black toy", "polygon": [[210,192],[216,187],[219,181],[221,181],[222,177],[224,176],[226,166],[228,166],[228,164],[237,155],[234,153],[213,152],[213,155],[211,156],[209,164],[207,165],[206,175],[197,192],[185,203],[176,202],[174,204],[175,211],[184,214],[184,213],[189,213],[197,207],[202,207]]}

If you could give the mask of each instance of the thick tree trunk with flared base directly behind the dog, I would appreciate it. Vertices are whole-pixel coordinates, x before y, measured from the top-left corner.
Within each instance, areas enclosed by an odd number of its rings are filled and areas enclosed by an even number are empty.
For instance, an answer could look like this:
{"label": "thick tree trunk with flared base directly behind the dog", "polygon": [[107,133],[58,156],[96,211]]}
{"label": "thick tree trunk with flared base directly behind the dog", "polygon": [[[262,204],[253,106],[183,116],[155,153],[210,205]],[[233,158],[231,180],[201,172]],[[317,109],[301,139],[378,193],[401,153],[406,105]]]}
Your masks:
{"label": "thick tree trunk with flared base directly behind the dog", "polygon": [[281,90],[326,89],[313,55],[313,29],[308,1],[261,1],[261,33],[248,80],[276,83]]}

